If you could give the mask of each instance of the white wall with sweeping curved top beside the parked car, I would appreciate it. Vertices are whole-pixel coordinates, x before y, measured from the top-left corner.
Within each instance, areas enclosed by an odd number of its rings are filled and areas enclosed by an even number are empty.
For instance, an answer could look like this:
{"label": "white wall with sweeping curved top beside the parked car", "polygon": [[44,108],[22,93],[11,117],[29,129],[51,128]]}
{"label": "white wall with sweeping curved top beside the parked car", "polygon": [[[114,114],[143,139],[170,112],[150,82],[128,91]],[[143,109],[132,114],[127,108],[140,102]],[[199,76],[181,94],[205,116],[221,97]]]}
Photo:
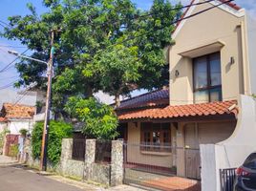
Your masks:
{"label": "white wall with sweeping curved top beside the parked car", "polygon": [[256,101],[251,96],[241,96],[233,135],[215,145],[200,147],[203,191],[220,191],[219,170],[242,165],[247,156],[256,151],[255,135]]}

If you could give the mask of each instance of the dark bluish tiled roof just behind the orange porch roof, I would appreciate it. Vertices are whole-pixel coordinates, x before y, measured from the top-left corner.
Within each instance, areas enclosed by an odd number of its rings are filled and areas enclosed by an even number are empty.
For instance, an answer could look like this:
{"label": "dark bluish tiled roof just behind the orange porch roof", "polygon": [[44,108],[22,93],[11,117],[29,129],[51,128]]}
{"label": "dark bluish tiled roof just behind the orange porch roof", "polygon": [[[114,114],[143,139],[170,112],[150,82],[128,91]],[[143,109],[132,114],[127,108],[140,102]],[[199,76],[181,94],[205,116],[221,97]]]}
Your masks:
{"label": "dark bluish tiled roof just behind the orange porch roof", "polygon": [[158,107],[169,104],[169,89],[153,91],[121,101],[116,110],[135,109],[141,107]]}

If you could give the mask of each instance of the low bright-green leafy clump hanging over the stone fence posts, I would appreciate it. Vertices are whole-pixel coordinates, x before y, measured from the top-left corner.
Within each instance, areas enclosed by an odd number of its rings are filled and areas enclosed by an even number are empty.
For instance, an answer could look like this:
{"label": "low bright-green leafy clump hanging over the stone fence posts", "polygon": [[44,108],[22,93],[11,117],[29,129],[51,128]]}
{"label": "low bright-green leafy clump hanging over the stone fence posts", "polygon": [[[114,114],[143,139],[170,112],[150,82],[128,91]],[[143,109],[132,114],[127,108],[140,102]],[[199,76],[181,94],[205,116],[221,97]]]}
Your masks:
{"label": "low bright-green leafy clump hanging over the stone fence posts", "polygon": [[98,102],[96,98],[70,97],[65,110],[85,123],[82,133],[88,138],[117,137],[117,116],[113,108]]}

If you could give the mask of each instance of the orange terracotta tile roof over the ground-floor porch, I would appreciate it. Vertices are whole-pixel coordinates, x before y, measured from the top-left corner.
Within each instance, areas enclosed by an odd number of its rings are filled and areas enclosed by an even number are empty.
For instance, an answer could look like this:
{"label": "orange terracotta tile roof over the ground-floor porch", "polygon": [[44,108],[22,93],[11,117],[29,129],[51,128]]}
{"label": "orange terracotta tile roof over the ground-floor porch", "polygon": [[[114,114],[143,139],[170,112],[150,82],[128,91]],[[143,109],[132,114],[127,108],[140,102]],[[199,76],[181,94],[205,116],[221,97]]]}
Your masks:
{"label": "orange terracotta tile roof over the ground-floor porch", "polygon": [[[151,108],[144,110],[134,110],[117,114],[120,120],[135,118],[174,118],[174,117],[207,117],[215,115],[238,114],[238,108],[234,105],[236,100],[218,101],[201,104],[188,104],[178,106],[167,106],[165,108]],[[230,111],[229,111],[230,109]]]}

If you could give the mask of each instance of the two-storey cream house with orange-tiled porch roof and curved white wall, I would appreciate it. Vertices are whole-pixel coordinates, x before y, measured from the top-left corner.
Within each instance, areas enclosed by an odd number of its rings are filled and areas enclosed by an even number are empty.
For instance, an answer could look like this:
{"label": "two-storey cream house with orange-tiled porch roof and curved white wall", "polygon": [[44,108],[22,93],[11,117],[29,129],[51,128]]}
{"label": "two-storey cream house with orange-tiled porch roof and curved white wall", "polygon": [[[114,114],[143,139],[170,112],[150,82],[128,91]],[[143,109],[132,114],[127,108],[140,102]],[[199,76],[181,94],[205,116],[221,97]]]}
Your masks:
{"label": "two-storey cream house with orange-tiled porch roof and curved white wall", "polygon": [[[223,2],[191,6],[183,17]],[[249,97],[256,93],[256,22],[229,2],[182,20],[172,37],[169,105],[158,104],[167,97],[155,99],[157,91],[117,108],[127,129],[127,162],[175,167],[178,176],[202,179],[203,190],[220,190],[220,168],[238,167],[256,150],[256,106]]]}

